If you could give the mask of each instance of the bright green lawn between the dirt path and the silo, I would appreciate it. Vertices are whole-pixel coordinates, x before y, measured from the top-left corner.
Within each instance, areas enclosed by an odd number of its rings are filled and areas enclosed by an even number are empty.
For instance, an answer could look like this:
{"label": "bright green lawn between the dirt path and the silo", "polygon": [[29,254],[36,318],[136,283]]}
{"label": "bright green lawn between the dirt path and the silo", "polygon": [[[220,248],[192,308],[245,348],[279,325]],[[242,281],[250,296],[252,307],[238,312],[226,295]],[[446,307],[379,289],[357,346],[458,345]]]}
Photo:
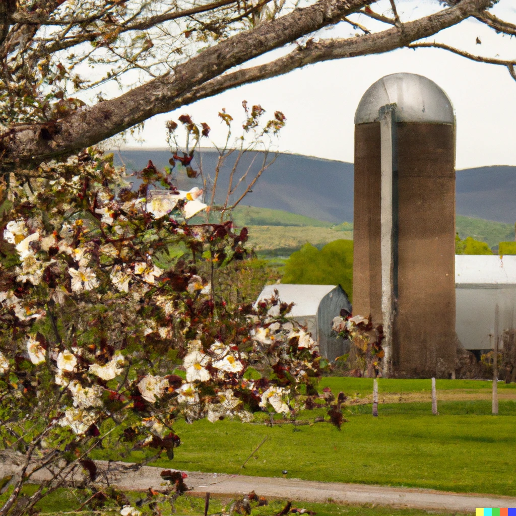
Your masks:
{"label": "bright green lawn between the dirt path and the silo", "polygon": [[[344,412],[349,422],[342,430],[328,423],[294,427],[277,421],[270,427],[236,421],[178,422],[174,430],[183,444],[173,461],[160,459],[156,465],[270,477],[287,470],[289,478],[516,496],[515,385],[499,384],[499,415],[493,416],[491,382],[438,380],[439,415],[433,416],[430,380],[380,379],[380,401],[383,396],[401,395],[401,399],[380,402],[379,416],[373,417],[364,399],[372,382],[322,380],[321,388],[330,386],[335,393],[342,390],[350,396]],[[464,393],[474,399],[461,399]],[[403,402],[411,395],[425,398]],[[361,402],[354,403],[353,396]],[[325,409],[303,411],[298,418],[313,422],[324,414]],[[260,419],[268,418],[258,414],[256,421]],[[241,469],[264,437],[267,441]],[[106,454],[99,451],[99,458],[107,458]],[[133,460],[141,457],[138,452]]]}

